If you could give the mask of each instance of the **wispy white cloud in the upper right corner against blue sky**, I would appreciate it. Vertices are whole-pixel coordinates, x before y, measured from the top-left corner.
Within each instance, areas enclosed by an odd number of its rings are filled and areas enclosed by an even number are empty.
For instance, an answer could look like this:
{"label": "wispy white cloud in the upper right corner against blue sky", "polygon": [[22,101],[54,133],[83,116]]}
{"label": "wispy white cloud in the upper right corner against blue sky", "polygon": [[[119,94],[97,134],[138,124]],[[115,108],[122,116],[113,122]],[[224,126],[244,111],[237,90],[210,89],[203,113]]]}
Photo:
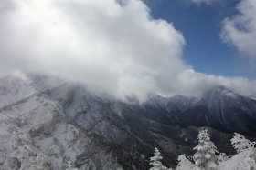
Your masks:
{"label": "wispy white cloud in the upper right corner against blue sky", "polygon": [[223,21],[221,38],[224,42],[256,58],[256,1],[241,0],[237,5],[238,15],[226,18]]}

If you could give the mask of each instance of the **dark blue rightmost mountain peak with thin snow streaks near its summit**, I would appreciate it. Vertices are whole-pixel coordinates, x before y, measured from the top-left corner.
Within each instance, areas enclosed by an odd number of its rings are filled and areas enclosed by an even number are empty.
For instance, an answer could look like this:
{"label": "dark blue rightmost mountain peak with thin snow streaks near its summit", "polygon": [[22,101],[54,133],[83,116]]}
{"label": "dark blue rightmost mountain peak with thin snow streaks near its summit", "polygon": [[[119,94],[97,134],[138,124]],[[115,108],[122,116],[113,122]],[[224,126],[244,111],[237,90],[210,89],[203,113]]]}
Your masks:
{"label": "dark blue rightmost mountain peak with thin snow streaks near its summit", "polygon": [[209,90],[179,117],[181,125],[211,126],[256,135],[256,101],[224,87]]}

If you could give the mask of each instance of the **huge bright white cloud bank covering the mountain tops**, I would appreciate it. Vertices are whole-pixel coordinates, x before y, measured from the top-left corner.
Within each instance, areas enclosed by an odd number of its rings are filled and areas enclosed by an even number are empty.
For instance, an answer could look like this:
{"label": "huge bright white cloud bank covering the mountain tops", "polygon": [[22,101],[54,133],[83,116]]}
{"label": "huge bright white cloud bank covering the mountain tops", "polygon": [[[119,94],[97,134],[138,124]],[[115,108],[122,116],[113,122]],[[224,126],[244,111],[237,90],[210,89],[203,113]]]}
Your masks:
{"label": "huge bright white cloud bank covering the mountain tops", "polygon": [[140,100],[151,92],[198,95],[213,85],[256,92],[255,82],[204,75],[186,65],[183,35],[151,18],[142,1],[1,0],[0,25],[2,73],[59,75]]}

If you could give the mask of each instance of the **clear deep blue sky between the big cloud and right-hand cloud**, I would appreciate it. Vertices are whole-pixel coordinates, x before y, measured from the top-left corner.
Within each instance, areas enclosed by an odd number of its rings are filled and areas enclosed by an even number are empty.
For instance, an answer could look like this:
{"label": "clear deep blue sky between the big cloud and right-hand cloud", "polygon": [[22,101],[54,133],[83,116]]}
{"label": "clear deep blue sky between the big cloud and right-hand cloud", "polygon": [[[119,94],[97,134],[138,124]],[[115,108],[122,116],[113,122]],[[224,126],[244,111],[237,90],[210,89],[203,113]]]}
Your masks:
{"label": "clear deep blue sky between the big cloud and right-hand cloud", "polygon": [[154,18],[173,23],[184,35],[187,45],[184,60],[201,73],[244,76],[255,79],[255,65],[250,64],[235,47],[220,39],[221,22],[238,14],[238,0],[214,5],[196,5],[186,0],[144,0]]}

